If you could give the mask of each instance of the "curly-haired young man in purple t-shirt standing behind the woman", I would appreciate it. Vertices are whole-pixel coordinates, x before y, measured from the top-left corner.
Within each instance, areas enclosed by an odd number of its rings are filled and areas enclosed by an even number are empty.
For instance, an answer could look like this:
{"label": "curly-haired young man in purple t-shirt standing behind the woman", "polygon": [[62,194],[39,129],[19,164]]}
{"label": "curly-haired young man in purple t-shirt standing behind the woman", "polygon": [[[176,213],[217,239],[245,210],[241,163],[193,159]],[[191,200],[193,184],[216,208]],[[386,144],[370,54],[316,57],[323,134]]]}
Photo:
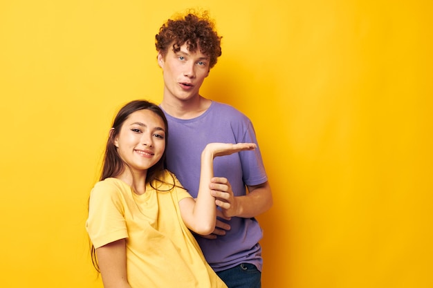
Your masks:
{"label": "curly-haired young man in purple t-shirt standing behind the woman", "polygon": [[[199,191],[201,151],[210,142],[254,142],[250,119],[227,104],[199,93],[210,68],[221,56],[221,37],[208,13],[194,11],[167,20],[156,35],[163,69],[160,106],[169,122],[167,166],[195,198]],[[206,260],[231,287],[261,287],[262,237],[255,216],[273,204],[259,148],[214,161],[214,175],[225,177],[228,191],[212,192],[221,209],[214,233],[196,236]],[[212,189],[212,184],[211,189]],[[248,193],[246,193],[248,189]]]}

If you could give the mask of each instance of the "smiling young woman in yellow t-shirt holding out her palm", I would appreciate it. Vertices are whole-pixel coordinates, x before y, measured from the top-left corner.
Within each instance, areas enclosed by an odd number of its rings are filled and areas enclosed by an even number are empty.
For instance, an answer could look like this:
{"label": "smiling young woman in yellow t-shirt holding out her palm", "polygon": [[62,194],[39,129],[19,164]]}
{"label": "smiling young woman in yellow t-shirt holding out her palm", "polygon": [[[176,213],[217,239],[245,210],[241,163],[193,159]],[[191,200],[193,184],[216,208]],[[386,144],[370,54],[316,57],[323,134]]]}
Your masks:
{"label": "smiling young woman in yellow t-shirt holding out her palm", "polygon": [[213,177],[214,157],[253,150],[255,144],[208,144],[194,200],[164,169],[167,131],[164,113],[147,101],[129,102],[113,121],[86,222],[105,288],[226,287],[190,230],[212,233],[216,205],[229,205],[211,195],[228,191],[225,178]]}

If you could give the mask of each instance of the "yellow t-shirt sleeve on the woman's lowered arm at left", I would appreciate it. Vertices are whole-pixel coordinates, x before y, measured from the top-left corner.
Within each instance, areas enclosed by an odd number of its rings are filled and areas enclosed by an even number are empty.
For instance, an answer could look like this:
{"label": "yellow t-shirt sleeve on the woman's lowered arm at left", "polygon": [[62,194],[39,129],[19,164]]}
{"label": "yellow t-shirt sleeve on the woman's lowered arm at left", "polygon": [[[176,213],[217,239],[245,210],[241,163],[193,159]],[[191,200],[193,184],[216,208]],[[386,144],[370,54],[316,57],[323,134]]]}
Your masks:
{"label": "yellow t-shirt sleeve on the woman's lowered arm at left", "polygon": [[86,230],[95,248],[128,237],[123,203],[113,183],[98,182],[91,190]]}

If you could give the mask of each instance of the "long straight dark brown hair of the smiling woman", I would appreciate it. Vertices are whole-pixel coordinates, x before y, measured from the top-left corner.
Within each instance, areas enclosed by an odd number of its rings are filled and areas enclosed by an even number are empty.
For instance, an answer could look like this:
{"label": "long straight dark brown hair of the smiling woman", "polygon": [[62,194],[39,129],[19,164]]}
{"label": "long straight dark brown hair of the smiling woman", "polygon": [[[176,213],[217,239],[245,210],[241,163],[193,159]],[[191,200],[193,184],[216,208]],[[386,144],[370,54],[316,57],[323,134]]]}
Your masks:
{"label": "long straight dark brown hair of the smiling woman", "polygon": [[[114,145],[114,140],[116,136],[120,133],[120,129],[122,128],[123,123],[126,119],[128,119],[129,115],[136,111],[140,110],[149,110],[158,115],[161,119],[163,119],[165,125],[165,147],[164,153],[161,156],[160,160],[156,162],[154,166],[151,166],[147,169],[146,176],[146,184],[151,183],[156,180],[157,175],[160,171],[163,171],[165,168],[165,148],[167,148],[167,139],[168,139],[168,123],[167,118],[165,117],[163,111],[156,105],[146,100],[134,100],[131,101],[122,108],[116,115],[113,120],[113,124],[111,125],[111,130],[109,132],[109,137],[107,140],[107,145],[104,153],[104,160],[102,164],[102,171],[100,176],[100,181],[105,180],[109,177],[116,177],[120,175],[125,168],[127,168],[127,164],[120,157],[117,147]],[[91,260],[95,269],[99,272],[98,260],[96,258],[95,247],[91,244]]]}

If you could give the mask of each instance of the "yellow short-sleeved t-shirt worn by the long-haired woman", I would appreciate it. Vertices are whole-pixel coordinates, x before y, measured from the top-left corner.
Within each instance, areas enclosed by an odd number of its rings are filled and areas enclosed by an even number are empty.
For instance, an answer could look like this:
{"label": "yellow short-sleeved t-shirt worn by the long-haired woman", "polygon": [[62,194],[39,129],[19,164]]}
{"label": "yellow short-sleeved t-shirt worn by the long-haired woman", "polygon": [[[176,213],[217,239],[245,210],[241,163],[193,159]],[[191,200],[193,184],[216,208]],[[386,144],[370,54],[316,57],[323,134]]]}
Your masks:
{"label": "yellow short-sleeved t-shirt worn by the long-haired woman", "polygon": [[[116,178],[95,184],[86,229],[95,248],[126,238],[127,277],[132,288],[227,287],[205,261],[183,223],[178,202],[191,197],[176,177],[149,184],[137,195]],[[173,187],[173,184],[176,185]]]}

